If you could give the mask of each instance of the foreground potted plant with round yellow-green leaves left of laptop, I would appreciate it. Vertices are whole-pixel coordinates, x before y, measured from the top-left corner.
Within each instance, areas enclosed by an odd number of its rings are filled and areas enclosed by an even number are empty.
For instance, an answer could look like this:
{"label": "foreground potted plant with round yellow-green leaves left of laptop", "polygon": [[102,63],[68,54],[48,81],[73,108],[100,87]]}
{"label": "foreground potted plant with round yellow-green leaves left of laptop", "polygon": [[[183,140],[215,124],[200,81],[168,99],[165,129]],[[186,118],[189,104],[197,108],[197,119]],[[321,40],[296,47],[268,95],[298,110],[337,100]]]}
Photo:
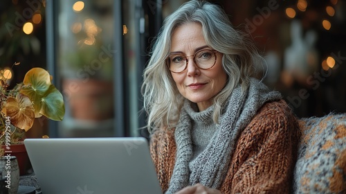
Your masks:
{"label": "foreground potted plant with round yellow-green leaves left of laptop", "polygon": [[[15,155],[17,149],[27,157],[23,143],[25,132],[33,127],[35,118],[41,116],[62,121],[65,114],[64,99],[51,83],[48,71],[39,67],[30,69],[24,76],[23,82],[13,89],[8,87],[6,75],[1,76],[0,156]],[[21,158],[22,155],[17,155],[17,160],[21,175],[24,175],[26,172],[23,165],[26,161],[23,161],[25,158]]]}

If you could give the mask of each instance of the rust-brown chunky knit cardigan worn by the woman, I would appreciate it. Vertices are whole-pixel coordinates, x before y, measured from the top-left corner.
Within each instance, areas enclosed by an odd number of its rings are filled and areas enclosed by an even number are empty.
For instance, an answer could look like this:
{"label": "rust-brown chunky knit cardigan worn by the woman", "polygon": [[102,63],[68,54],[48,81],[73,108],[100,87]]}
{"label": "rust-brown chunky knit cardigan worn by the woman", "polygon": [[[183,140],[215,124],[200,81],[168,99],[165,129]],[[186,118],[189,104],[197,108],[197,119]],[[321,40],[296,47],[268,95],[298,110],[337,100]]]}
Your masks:
{"label": "rust-brown chunky knit cardigan worn by the woman", "polygon": [[[298,123],[284,100],[266,103],[240,134],[221,193],[290,193]],[[163,192],[173,173],[174,129],[156,130],[150,152]]]}

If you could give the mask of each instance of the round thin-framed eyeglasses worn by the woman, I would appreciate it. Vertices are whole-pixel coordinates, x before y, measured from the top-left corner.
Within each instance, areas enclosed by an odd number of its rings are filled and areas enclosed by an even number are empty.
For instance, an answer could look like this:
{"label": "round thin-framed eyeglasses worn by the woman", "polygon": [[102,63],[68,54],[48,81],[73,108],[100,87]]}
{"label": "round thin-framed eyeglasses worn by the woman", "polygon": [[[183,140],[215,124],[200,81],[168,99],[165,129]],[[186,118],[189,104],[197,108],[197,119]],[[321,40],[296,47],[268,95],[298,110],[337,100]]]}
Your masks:
{"label": "round thin-framed eyeglasses worn by the woman", "polygon": [[188,68],[188,57],[193,56],[194,63],[199,69],[210,69],[214,67],[217,51],[211,49],[202,49],[194,53],[194,55],[183,55],[180,52],[173,52],[168,55],[166,60],[167,67],[173,73],[181,73]]}

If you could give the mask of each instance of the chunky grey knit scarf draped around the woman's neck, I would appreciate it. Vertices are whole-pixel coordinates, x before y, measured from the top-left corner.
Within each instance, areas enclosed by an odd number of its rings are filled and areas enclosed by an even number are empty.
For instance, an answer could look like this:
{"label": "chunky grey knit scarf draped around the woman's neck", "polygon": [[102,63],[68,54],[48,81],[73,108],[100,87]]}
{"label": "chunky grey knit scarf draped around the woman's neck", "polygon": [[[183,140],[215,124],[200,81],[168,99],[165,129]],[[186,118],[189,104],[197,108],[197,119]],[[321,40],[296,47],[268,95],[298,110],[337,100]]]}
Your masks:
{"label": "chunky grey knit scarf draped around the woman's neck", "polygon": [[[251,79],[245,91],[240,85],[235,87],[228,98],[226,112],[220,117],[217,131],[211,137],[206,149],[197,157],[197,162],[190,166],[192,168],[189,168],[193,156],[190,134],[192,122],[183,107],[174,134],[177,149],[176,163],[167,193],[175,193],[185,186],[197,183],[210,188],[219,188],[226,176],[230,153],[235,149],[239,134],[250,123],[257,109],[268,101],[280,98],[279,92],[269,91],[262,82],[255,79]],[[185,102],[185,105],[188,105],[188,102]]]}

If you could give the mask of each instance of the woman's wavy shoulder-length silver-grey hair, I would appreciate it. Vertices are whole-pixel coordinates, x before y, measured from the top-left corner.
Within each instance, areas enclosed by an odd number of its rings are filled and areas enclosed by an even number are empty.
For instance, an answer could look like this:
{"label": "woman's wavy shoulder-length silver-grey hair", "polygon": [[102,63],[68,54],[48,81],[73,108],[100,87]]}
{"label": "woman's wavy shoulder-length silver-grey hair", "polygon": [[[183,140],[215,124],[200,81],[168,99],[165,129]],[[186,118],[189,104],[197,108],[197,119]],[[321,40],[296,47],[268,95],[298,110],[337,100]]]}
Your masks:
{"label": "woman's wavy shoulder-length silver-grey hair", "polygon": [[206,1],[188,1],[167,17],[152,47],[151,58],[144,71],[142,94],[147,112],[148,130],[158,127],[175,127],[183,96],[176,88],[172,75],[165,64],[170,53],[174,30],[186,23],[199,23],[203,37],[210,48],[223,53],[222,66],[228,76],[226,86],[214,98],[213,121],[218,123],[222,107],[233,91],[241,84],[248,85],[254,65],[263,58],[244,33],[233,28],[228,15],[219,6]]}

